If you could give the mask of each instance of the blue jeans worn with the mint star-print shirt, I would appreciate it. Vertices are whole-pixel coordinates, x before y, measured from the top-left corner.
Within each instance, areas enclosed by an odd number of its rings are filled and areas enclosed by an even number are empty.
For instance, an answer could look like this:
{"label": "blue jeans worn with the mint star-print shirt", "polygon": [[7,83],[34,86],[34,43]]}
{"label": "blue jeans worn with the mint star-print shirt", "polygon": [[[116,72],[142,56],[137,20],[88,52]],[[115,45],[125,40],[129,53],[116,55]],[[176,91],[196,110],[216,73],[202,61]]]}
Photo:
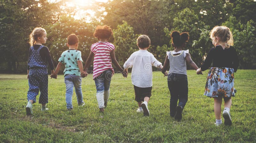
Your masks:
{"label": "blue jeans worn with the mint star-print shirt", "polygon": [[82,77],[77,75],[67,74],[64,76],[66,84],[66,103],[67,109],[73,108],[72,105],[72,96],[73,96],[73,87],[75,87],[77,103],[83,102],[83,93],[82,93]]}

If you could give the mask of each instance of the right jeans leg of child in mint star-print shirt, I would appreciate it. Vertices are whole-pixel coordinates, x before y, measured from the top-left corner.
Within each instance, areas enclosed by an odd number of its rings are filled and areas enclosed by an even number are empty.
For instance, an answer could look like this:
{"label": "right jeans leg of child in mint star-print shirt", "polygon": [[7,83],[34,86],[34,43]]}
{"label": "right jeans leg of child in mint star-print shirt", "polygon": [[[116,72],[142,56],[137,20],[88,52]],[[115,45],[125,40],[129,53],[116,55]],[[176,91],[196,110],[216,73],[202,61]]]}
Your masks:
{"label": "right jeans leg of child in mint star-print shirt", "polygon": [[77,103],[82,104],[83,103],[82,77],[75,75],[73,76],[73,79],[74,79]]}

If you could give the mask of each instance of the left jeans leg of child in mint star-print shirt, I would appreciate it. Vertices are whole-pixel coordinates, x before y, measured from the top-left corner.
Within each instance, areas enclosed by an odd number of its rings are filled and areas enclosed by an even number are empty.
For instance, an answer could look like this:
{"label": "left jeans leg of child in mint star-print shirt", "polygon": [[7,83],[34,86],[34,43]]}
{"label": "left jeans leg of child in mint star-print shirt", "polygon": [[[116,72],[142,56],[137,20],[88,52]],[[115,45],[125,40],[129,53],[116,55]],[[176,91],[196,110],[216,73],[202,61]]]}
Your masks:
{"label": "left jeans leg of child in mint star-print shirt", "polygon": [[70,74],[65,75],[64,80],[66,84],[66,103],[67,103],[66,106],[67,106],[67,109],[72,109],[73,108],[72,96],[73,96],[73,87],[74,87],[72,75]]}

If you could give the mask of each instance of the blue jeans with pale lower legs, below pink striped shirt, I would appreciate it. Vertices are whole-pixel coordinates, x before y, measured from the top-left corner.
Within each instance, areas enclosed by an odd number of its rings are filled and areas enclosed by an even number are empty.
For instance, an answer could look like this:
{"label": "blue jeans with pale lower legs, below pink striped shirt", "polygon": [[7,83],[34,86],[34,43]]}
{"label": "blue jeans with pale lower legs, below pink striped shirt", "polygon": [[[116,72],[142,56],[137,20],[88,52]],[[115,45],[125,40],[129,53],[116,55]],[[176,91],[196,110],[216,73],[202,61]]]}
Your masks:
{"label": "blue jeans with pale lower legs, below pink striped shirt", "polygon": [[96,98],[99,108],[105,107],[104,103],[108,102],[111,78],[112,71],[111,69],[107,69],[94,79],[97,90]]}

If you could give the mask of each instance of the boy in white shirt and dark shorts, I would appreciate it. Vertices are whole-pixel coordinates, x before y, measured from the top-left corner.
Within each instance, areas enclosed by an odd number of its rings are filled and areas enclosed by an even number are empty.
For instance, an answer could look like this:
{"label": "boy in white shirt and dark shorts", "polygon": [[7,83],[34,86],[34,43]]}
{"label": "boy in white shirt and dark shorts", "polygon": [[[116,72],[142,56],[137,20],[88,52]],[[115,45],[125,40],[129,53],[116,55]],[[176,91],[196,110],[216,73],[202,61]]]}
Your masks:
{"label": "boy in white shirt and dark shorts", "polygon": [[[144,116],[149,116],[148,101],[152,90],[152,66],[163,68],[162,63],[156,60],[154,55],[148,52],[150,39],[146,35],[141,35],[137,39],[139,51],[132,55],[124,63],[124,71],[132,68],[132,84],[134,86],[135,100],[138,102],[138,113],[143,112]],[[144,101],[142,103],[142,101]]]}

